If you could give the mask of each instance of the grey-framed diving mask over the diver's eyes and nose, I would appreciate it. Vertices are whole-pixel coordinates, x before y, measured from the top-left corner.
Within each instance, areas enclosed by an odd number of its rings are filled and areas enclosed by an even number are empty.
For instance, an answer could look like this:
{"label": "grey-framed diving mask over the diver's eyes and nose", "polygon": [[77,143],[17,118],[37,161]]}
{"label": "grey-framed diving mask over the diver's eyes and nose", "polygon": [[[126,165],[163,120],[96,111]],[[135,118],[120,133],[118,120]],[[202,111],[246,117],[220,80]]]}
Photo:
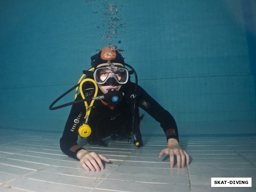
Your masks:
{"label": "grey-framed diving mask over the diver's eyes and nose", "polygon": [[126,68],[123,67],[120,63],[107,63],[101,64],[100,67],[94,70],[94,81],[97,84],[125,84],[129,78],[129,72]]}

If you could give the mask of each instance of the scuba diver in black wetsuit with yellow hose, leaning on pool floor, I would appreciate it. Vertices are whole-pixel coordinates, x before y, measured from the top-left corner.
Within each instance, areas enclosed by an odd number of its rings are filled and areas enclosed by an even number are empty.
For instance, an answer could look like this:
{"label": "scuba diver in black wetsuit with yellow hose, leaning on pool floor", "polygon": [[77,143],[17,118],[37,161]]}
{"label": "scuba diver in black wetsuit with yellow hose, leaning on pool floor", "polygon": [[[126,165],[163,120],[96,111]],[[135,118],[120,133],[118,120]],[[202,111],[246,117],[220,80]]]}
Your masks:
{"label": "scuba diver in black wetsuit with yellow hose, leaning on pool floor", "polygon": [[[164,130],[167,147],[161,150],[159,157],[169,154],[171,168],[174,166],[174,156],[177,157],[178,168],[184,168],[185,163],[188,165],[189,155],[179,146],[178,129],[173,116],[138,85],[135,70],[124,62],[116,47],[103,48],[91,60],[92,68],[83,71],[86,77],[81,80],[82,76],[76,86],[77,89],[79,86],[80,94],[77,95],[76,90],[76,100],[67,104],[72,104],[72,108],[60,139],[62,152],[79,160],[87,171],[104,169],[102,161],[109,160],[80,147],[77,144],[78,135],[89,144],[104,146],[102,138],[111,136],[115,140],[116,135],[129,138],[132,133],[134,145],[142,147],[140,121],[144,114],[139,115],[140,107],[158,121]],[[127,67],[132,70],[129,71]],[[130,81],[132,74],[135,75],[136,83]],[[52,103],[51,110],[67,106],[52,107],[60,98]]]}

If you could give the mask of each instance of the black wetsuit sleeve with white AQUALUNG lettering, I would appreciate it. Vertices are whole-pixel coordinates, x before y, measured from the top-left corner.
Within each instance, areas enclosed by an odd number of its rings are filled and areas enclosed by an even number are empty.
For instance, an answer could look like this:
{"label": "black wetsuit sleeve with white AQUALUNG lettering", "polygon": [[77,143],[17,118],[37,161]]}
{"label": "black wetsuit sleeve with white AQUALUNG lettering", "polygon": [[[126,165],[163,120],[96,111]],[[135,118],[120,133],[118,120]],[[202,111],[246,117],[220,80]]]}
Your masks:
{"label": "black wetsuit sleeve with white AQUALUNG lettering", "polygon": [[[82,99],[81,95],[78,95],[76,100]],[[84,103],[74,104],[71,108],[70,114],[68,116],[67,123],[65,125],[63,135],[60,138],[60,149],[66,155],[77,159],[76,154],[78,151],[83,149],[77,144],[78,139],[78,129],[80,127],[81,121],[84,120],[85,116],[85,106]]]}

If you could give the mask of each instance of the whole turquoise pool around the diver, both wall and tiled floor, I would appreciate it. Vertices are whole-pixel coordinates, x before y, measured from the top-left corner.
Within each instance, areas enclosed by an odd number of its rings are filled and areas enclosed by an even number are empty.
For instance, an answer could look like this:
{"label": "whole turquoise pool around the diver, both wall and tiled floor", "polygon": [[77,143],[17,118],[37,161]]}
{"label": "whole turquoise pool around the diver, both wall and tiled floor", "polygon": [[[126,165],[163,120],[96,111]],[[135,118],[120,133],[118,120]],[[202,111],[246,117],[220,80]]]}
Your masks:
{"label": "whole turquoise pool around the diver, both wall and tiled floor", "polygon": [[[1,0],[0,191],[256,191],[255,9],[253,0]],[[185,168],[158,158],[166,138],[147,114],[142,148],[78,139],[111,160],[100,172],[60,150],[70,106],[49,106],[109,44],[174,116]],[[252,187],[211,187],[213,177]]]}

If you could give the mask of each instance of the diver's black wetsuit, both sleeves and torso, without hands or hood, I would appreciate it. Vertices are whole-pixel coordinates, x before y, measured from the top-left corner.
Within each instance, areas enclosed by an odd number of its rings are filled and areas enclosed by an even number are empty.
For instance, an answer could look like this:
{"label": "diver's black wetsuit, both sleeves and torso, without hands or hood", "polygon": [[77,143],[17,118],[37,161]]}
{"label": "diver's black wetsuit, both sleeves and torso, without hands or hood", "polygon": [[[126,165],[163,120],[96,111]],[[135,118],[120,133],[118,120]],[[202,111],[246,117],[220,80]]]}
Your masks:
{"label": "diver's black wetsuit, both sleeves and torso, without hands or hood", "polygon": [[[89,83],[90,84],[90,83]],[[125,96],[130,96],[134,91],[135,84],[128,81],[122,85],[119,91],[124,92]],[[83,86],[85,97],[92,97],[93,89]],[[98,95],[102,95],[99,89]],[[150,116],[158,121],[164,130],[166,139],[175,138],[179,140],[178,129],[172,115],[160,106],[148,93],[140,86],[137,88],[137,105],[145,110]],[[82,99],[78,95],[76,100]],[[131,131],[127,127],[131,126],[132,110],[131,99],[123,97],[122,101],[116,106],[104,104],[101,100],[95,100],[89,118],[89,125],[92,133],[88,137],[89,140],[99,140],[112,134],[122,134]],[[88,103],[89,104],[89,103]],[[70,115],[60,139],[60,148],[66,155],[77,159],[76,154],[83,149],[77,144],[78,129],[83,123],[85,116],[84,103],[76,103],[72,106]]]}

